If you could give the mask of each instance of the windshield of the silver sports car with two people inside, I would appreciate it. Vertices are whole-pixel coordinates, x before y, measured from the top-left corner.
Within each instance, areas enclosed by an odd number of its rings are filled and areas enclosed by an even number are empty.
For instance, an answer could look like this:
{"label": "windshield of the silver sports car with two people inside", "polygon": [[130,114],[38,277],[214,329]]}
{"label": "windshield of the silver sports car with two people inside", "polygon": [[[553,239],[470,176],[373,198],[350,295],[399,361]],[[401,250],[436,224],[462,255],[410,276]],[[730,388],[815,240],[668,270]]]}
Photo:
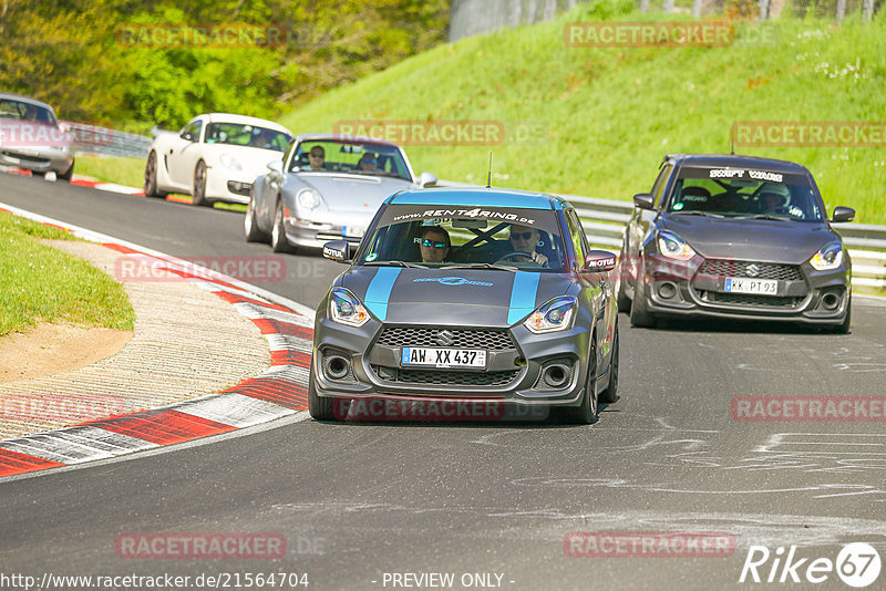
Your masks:
{"label": "windshield of the silver sports car with two people inside", "polygon": [[[311,158],[311,154],[322,157]],[[349,173],[412,180],[399,147],[358,141],[301,142],[292,155],[289,172]]]}

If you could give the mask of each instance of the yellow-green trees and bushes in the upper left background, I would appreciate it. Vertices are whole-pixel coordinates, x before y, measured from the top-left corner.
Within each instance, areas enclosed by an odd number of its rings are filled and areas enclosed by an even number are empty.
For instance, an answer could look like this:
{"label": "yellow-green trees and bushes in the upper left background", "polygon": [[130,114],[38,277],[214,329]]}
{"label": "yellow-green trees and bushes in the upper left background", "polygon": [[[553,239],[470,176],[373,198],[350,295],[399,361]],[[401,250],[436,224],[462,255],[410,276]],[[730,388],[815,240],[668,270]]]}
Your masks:
{"label": "yellow-green trees and bushes in the upper left background", "polygon": [[[439,43],[447,21],[449,0],[3,0],[0,89],[142,133],[205,112],[272,117]],[[152,45],[121,32],[207,24],[271,28],[285,42]]]}

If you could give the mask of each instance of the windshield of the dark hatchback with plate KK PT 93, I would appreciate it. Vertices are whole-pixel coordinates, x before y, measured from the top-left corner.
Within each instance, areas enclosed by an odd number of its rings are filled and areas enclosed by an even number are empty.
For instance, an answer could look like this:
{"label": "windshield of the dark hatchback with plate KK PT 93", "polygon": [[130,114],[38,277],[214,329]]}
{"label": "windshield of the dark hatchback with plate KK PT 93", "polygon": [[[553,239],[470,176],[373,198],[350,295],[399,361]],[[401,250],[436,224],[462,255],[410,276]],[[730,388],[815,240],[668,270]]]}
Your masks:
{"label": "windshield of the dark hatchback with plate KK PT 93", "polygon": [[710,217],[822,220],[822,207],[807,177],[742,168],[683,168],[667,210]]}

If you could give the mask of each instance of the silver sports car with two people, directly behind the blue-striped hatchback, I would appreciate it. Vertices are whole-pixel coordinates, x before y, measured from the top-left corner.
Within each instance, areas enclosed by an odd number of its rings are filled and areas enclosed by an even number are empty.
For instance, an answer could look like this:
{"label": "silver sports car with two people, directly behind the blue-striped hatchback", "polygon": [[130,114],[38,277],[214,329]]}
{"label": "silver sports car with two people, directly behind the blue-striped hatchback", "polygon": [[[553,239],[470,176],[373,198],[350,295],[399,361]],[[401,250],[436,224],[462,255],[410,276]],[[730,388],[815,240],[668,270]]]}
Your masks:
{"label": "silver sports car with two people, directly behind the blue-striped hatchback", "polygon": [[268,168],[253,185],[245,234],[275,252],[359,242],[385,198],[436,183],[431,173],[416,177],[396,144],[336,134],[300,135]]}

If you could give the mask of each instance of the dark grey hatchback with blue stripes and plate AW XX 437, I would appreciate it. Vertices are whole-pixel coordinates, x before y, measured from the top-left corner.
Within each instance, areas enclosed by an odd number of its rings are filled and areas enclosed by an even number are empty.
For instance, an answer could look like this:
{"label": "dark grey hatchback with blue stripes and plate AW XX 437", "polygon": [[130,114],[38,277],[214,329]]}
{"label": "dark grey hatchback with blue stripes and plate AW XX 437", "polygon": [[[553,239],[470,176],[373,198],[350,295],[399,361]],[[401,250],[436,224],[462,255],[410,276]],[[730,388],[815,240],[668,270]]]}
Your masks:
{"label": "dark grey hatchback with blue stripes and plate AW XX 437", "polygon": [[388,198],[320,302],[309,409],[319,419],[540,418],[593,423],[615,402],[615,255],[573,207],[497,189]]}

